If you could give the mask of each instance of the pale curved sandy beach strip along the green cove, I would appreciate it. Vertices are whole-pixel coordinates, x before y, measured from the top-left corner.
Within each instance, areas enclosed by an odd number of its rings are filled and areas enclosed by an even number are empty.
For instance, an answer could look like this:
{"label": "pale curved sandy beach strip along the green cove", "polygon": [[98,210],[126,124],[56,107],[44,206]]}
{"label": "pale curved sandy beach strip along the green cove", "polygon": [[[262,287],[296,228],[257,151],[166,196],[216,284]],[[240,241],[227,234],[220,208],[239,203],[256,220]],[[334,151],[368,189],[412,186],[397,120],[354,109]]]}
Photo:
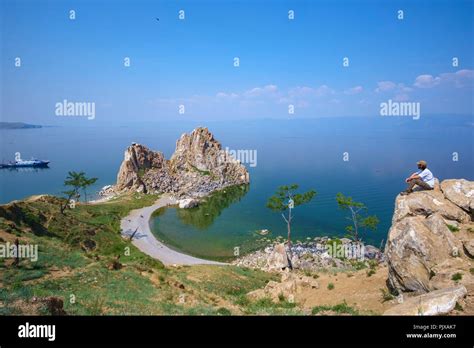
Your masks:
{"label": "pale curved sandy beach strip along the green cove", "polygon": [[151,215],[155,210],[173,204],[177,204],[176,199],[163,195],[151,206],[132,210],[120,221],[122,237],[130,238],[138,228],[132,244],[165,265],[226,265],[226,263],[199,259],[180,253],[156,239],[150,230]]}

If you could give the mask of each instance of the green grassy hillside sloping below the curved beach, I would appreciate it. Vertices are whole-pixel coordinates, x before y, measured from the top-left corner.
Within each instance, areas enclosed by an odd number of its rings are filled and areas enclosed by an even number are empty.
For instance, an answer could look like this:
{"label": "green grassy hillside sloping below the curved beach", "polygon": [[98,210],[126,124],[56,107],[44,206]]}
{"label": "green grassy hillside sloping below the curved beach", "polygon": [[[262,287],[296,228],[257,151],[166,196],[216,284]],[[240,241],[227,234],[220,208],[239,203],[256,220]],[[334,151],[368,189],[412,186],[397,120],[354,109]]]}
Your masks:
{"label": "green grassy hillside sloping below the curved beach", "polygon": [[48,314],[41,301],[51,296],[71,315],[300,313],[285,301],[245,296],[275,275],[234,266],[164,267],[123,239],[120,219],[156,198],[78,204],[64,215],[51,196],[0,206],[0,243],[18,238],[39,246],[37,262],[0,259],[0,314]]}

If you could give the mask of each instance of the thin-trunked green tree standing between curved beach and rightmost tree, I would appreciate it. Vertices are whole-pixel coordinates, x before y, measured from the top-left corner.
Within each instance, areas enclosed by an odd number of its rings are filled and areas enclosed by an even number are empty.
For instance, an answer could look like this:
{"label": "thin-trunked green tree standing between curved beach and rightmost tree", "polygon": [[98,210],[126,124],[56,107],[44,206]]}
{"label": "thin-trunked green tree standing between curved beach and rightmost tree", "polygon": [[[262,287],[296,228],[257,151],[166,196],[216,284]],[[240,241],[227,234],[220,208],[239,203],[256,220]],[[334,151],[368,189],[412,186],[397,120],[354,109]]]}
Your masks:
{"label": "thin-trunked green tree standing between curved beach and rightmost tree", "polygon": [[[316,195],[311,190],[305,193],[296,193],[298,185],[280,186],[277,192],[268,199],[267,208],[281,213],[288,229],[288,247],[291,247],[291,222],[293,221],[292,210],[302,204],[310,202]],[[291,250],[291,249],[290,249]]]}

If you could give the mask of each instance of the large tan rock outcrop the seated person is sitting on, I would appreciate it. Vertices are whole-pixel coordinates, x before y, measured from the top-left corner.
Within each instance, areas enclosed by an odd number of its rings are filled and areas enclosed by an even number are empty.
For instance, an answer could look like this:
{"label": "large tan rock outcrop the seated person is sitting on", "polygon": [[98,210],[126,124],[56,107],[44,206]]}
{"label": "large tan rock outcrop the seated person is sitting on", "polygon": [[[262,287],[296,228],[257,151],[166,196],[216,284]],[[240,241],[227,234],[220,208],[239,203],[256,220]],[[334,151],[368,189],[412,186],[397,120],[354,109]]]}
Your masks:
{"label": "large tan rock outcrop the seated person is sitting on", "polygon": [[445,180],[441,190],[397,197],[385,248],[394,292],[426,293],[474,282],[473,184]]}

